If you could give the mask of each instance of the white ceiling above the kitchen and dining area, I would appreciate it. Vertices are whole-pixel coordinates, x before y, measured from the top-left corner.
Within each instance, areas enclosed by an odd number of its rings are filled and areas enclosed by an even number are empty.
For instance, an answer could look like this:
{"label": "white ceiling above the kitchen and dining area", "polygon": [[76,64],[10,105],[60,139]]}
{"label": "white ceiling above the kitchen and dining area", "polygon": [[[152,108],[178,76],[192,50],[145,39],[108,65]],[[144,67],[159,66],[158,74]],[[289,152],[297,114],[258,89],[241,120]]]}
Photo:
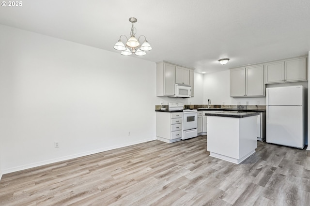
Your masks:
{"label": "white ceiling above the kitchen and dining area", "polygon": [[[308,54],[310,0],[28,0],[0,7],[0,24],[119,53],[121,34],[145,35],[143,57],[217,72]],[[125,57],[124,58],[128,58]],[[217,60],[230,58],[226,65]]]}

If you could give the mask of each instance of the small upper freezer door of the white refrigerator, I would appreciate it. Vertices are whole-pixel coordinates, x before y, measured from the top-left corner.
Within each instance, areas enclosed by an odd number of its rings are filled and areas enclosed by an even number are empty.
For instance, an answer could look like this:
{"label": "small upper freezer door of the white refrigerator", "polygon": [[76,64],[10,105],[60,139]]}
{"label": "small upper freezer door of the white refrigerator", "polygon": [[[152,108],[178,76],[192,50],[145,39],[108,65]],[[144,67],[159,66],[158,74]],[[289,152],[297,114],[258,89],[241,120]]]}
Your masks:
{"label": "small upper freezer door of the white refrigerator", "polygon": [[266,88],[267,105],[302,105],[302,86]]}

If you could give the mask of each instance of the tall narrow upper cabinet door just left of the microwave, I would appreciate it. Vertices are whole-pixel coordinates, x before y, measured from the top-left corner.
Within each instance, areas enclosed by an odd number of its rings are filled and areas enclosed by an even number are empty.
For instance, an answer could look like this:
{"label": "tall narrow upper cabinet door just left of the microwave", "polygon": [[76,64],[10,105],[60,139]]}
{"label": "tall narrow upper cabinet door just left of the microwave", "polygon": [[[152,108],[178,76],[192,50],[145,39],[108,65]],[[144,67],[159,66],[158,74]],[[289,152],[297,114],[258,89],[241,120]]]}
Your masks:
{"label": "tall narrow upper cabinet door just left of the microwave", "polygon": [[173,96],[175,90],[175,66],[164,63],[164,95]]}

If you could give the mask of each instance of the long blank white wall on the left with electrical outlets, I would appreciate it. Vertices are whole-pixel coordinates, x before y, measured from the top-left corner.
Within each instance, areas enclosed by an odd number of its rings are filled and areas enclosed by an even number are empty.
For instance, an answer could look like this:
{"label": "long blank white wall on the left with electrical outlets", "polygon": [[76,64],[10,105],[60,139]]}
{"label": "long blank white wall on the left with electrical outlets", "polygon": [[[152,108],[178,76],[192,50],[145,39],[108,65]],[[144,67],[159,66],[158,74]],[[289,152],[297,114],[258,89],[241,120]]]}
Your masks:
{"label": "long blank white wall on the left with electrical outlets", "polygon": [[155,68],[0,25],[3,174],[154,140]]}

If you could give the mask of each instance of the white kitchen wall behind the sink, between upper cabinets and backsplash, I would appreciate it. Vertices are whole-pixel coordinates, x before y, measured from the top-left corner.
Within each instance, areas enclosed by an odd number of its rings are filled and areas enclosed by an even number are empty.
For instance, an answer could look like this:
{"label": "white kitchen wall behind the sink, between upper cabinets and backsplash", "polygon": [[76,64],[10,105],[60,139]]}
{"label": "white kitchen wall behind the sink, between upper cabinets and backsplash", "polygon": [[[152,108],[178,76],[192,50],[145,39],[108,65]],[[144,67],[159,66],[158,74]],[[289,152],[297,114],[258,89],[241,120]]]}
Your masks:
{"label": "white kitchen wall behind the sink, between upper cabinets and backsplash", "polygon": [[256,105],[257,101],[260,105],[266,104],[265,97],[248,97],[248,98],[232,98],[230,97],[230,71],[222,71],[210,74],[204,74],[204,94],[203,103],[207,104],[208,99],[211,100],[211,104],[225,104],[225,105],[237,105],[238,102],[242,105]]}

